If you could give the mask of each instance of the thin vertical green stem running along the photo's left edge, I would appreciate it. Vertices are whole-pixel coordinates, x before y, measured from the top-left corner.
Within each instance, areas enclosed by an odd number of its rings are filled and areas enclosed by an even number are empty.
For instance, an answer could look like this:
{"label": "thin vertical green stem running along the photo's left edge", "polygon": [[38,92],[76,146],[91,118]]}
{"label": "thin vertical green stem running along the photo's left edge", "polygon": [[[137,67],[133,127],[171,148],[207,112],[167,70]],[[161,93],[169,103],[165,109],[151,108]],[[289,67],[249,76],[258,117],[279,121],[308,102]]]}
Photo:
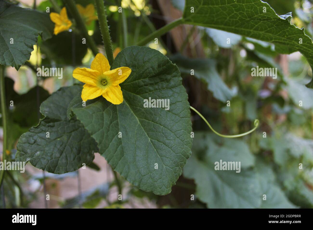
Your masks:
{"label": "thin vertical green stem running along the photo's left edge", "polygon": [[[7,156],[7,144],[8,144],[8,116],[7,116],[7,104],[5,99],[5,80],[4,80],[4,65],[0,65],[0,97],[1,97],[1,111],[2,111],[2,124],[3,124],[3,151],[2,161],[4,162]],[[0,171],[0,187],[3,182],[4,170]]]}

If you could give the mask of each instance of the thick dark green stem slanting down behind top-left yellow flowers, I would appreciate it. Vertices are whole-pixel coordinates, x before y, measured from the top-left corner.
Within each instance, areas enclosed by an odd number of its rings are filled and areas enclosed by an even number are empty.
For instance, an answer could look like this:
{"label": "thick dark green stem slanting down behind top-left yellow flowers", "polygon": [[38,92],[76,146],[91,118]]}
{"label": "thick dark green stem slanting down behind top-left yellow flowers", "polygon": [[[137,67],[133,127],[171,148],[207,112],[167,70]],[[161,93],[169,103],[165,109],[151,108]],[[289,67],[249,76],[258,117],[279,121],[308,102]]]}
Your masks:
{"label": "thick dark green stem slanting down behind top-left yellow flowers", "polygon": [[69,9],[69,12],[74,17],[74,20],[76,22],[77,28],[79,28],[81,35],[86,38],[86,43],[91,49],[92,53],[94,55],[98,54],[98,48],[96,46],[95,41],[89,36],[85,22],[83,18],[80,16],[80,13],[78,12],[78,9],[74,3],[73,0],[64,0],[64,3],[66,4],[67,8]]}

